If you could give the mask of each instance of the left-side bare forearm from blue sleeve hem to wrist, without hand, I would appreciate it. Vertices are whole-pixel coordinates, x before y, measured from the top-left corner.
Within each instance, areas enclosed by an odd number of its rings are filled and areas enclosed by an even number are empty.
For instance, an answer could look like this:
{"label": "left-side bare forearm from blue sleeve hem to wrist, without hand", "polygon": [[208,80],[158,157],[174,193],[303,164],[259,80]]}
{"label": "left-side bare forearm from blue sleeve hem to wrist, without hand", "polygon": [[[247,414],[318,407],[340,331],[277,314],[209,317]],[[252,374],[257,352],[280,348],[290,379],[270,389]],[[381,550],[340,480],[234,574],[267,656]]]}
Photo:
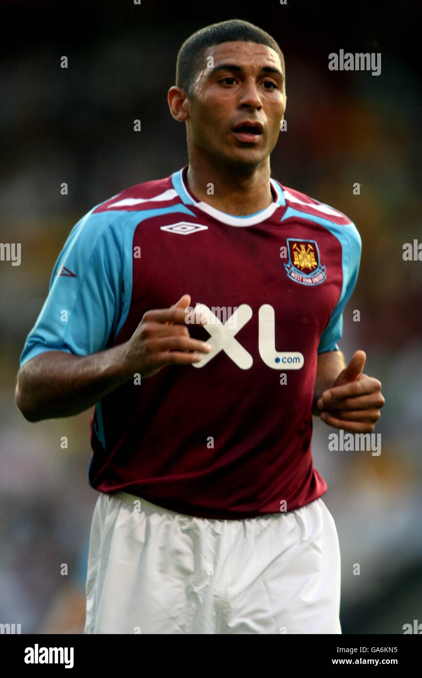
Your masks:
{"label": "left-side bare forearm from blue sleeve hem to wrist, without hand", "polygon": [[30,422],[79,414],[131,378],[124,355],[125,344],[83,357],[41,353],[18,373],[16,405]]}

